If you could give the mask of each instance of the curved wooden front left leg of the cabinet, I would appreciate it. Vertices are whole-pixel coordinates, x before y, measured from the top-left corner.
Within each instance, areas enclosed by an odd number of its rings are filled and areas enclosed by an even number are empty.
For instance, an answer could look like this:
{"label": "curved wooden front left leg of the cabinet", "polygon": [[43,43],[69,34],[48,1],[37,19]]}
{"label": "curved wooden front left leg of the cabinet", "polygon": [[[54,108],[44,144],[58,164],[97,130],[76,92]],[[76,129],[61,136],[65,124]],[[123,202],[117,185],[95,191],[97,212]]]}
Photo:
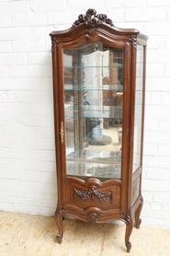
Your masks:
{"label": "curved wooden front left leg of the cabinet", "polygon": [[58,234],[57,234],[57,240],[58,243],[62,243],[62,236],[63,236],[63,227],[62,227],[62,219],[64,216],[64,211],[62,209],[62,207],[58,206],[57,210],[55,212],[55,219],[56,219],[56,224],[58,227]]}

